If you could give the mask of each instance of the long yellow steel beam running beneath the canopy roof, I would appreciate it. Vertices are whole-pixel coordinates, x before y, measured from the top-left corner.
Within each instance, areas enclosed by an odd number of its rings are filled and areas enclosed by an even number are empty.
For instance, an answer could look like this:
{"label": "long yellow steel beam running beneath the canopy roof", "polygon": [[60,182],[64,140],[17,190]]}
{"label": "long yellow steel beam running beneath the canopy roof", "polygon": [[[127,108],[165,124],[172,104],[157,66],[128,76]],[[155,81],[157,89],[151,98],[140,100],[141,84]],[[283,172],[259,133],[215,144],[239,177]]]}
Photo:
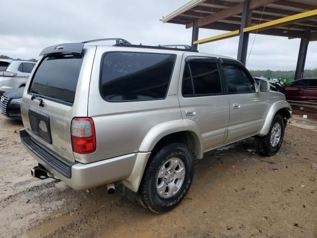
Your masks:
{"label": "long yellow steel beam running beneath the canopy roof", "polygon": [[[302,21],[304,19],[312,18],[315,16],[317,16],[317,9],[302,12],[302,13],[295,14],[292,16],[283,17],[283,18],[273,20],[273,21],[268,21],[268,22],[258,24],[255,26],[246,27],[243,29],[243,32],[263,31],[263,30],[267,30],[267,29],[274,28],[277,26],[282,26],[282,25],[287,25],[287,24],[293,23],[293,22]],[[234,37],[237,35],[239,35],[239,30],[231,31],[228,33],[224,33],[221,35],[217,35],[217,36],[213,36],[213,37],[209,37],[209,38],[205,38],[205,39],[201,39],[198,41],[194,41],[193,43],[194,44],[205,44],[208,42],[218,41],[218,40]]]}

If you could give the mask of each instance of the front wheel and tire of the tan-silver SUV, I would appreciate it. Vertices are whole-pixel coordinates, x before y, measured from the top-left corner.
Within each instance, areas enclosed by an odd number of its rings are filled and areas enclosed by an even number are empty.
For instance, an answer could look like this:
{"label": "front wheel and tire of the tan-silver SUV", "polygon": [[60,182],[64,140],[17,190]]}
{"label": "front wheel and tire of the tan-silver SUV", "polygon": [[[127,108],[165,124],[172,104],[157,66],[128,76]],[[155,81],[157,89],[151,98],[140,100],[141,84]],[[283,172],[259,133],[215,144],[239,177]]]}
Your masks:
{"label": "front wheel and tire of the tan-silver SUV", "polygon": [[281,148],[285,132],[285,120],[277,114],[265,136],[255,137],[255,149],[265,156],[275,155]]}

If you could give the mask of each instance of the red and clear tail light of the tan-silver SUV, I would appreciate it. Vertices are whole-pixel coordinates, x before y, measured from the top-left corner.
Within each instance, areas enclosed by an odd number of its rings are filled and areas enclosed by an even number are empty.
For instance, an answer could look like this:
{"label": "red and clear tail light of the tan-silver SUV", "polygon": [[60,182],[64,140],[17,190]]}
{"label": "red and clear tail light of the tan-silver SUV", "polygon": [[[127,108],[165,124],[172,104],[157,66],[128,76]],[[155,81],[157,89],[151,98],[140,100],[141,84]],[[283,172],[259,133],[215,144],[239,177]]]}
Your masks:
{"label": "red and clear tail light of the tan-silver SUV", "polygon": [[73,151],[89,154],[96,151],[96,133],[91,118],[74,118],[71,121],[71,143]]}

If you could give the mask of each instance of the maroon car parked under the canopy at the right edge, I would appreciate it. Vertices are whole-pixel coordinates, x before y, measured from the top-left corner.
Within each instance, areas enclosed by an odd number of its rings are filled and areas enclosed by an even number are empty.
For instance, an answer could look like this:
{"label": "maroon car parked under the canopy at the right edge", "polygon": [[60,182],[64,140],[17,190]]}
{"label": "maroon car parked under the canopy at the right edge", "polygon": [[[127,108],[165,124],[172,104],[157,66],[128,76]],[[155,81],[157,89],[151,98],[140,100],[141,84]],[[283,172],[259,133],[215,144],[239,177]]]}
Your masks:
{"label": "maroon car parked under the canopy at the right edge", "polygon": [[317,103],[317,78],[302,78],[285,84],[280,90],[287,101]]}

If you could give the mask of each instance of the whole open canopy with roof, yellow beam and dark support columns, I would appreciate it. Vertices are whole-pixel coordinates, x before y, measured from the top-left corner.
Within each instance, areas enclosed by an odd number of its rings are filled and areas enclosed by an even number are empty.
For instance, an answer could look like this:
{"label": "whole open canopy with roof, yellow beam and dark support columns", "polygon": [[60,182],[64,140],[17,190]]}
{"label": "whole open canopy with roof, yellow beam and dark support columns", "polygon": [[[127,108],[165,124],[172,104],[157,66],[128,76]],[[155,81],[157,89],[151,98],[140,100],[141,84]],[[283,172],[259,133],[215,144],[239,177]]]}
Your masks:
{"label": "whole open canopy with roof, yellow beam and dark support columns", "polygon": [[[239,36],[237,59],[243,64],[250,33],[301,38],[295,80],[303,77],[309,42],[317,41],[317,0],[191,0],[160,20],[193,27],[194,49]],[[199,28],[230,32],[199,40]]]}

